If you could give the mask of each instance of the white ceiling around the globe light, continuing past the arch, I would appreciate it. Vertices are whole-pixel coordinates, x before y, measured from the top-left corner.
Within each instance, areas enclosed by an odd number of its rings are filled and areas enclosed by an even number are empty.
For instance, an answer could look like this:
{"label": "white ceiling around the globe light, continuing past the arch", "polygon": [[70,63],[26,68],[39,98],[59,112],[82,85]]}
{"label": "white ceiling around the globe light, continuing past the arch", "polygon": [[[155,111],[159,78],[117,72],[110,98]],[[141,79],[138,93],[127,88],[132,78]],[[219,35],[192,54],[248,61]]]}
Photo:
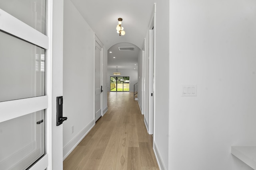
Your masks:
{"label": "white ceiling around the globe light, continuing past the arch", "polygon": [[[108,69],[137,69],[139,49],[152,23],[155,0],[71,0],[108,49]],[[122,18],[125,35],[116,33],[118,18]],[[120,43],[120,44],[118,44]],[[135,47],[134,51],[119,51],[118,47]],[[112,53],[109,53],[112,51]],[[113,57],[116,59],[113,59]]]}

